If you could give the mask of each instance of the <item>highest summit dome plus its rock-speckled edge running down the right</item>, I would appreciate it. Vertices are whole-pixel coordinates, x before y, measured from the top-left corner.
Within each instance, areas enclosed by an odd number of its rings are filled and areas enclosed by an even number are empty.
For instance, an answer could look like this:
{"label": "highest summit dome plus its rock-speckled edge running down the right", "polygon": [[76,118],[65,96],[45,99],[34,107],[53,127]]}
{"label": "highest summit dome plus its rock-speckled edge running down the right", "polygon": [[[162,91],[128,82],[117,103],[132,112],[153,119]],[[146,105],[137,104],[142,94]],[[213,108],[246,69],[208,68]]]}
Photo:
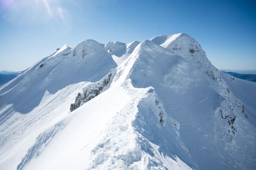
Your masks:
{"label": "highest summit dome plus its rock-speckled edge running down the right", "polygon": [[[163,46],[166,50],[176,53],[188,60],[190,64],[198,67],[201,71],[207,74],[210,78],[218,81],[218,86],[214,87],[218,94],[225,99],[221,103],[221,107],[216,110],[221,115],[226,125],[220,125],[223,129],[228,128],[228,134],[235,134],[237,127],[235,125],[237,115],[244,115],[244,104],[237,99],[228,87],[227,83],[221,78],[220,71],[214,67],[207,59],[202,47],[187,34],[173,34],[167,36],[156,36],[150,39],[153,43]],[[217,125],[216,125],[217,126]],[[228,127],[229,126],[229,127]],[[221,133],[221,132],[220,132]],[[230,137],[232,140],[234,137]]]}

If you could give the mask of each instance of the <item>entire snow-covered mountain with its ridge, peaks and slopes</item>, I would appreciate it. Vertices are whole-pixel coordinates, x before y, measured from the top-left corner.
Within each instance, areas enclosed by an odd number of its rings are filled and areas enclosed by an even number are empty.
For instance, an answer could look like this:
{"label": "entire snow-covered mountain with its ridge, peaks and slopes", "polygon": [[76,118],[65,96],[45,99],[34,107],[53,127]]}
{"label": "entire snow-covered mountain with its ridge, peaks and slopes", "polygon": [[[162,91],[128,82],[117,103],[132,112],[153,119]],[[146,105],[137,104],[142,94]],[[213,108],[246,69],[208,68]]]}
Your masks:
{"label": "entire snow-covered mountain with its ridge, peaks and slopes", "polygon": [[0,169],[253,169],[255,94],[187,34],[65,45],[0,87]]}

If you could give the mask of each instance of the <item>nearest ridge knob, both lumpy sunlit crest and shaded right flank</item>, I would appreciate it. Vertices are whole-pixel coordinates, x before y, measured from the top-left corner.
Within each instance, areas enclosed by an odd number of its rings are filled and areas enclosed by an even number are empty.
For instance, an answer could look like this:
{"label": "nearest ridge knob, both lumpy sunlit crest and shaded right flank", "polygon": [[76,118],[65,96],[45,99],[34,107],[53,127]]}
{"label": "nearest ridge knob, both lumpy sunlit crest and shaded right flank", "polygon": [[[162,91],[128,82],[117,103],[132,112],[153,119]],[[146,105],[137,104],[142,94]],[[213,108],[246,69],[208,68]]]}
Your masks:
{"label": "nearest ridge knob, both lumpy sunlit crest and shaded right flank", "polygon": [[[162,138],[157,132],[161,136],[164,135],[161,129],[166,129],[168,134],[179,136],[179,123],[165,115],[154,89],[134,89],[130,85],[127,82],[123,87],[129,90],[132,102],[108,123],[104,136],[92,149],[92,160],[87,169],[190,169],[179,157],[158,150],[157,144]],[[163,113],[163,118],[159,113]],[[161,122],[162,119],[166,122]],[[176,139],[172,138],[173,143]]]}

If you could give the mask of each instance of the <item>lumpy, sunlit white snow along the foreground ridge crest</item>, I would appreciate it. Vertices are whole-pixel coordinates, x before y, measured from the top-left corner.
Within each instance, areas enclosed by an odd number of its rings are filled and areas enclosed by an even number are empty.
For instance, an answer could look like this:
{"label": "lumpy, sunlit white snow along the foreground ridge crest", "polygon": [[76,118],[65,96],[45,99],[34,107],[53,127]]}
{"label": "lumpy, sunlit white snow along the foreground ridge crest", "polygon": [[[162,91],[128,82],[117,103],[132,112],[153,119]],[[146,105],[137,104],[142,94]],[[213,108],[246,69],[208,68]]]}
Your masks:
{"label": "lumpy, sunlit white snow along the foreground ridge crest", "polygon": [[133,89],[132,92],[136,93],[132,102],[125,104],[111,119],[99,143],[92,149],[92,160],[87,169],[140,169],[136,164],[142,154],[131,121],[137,112],[136,104],[147,90]]}

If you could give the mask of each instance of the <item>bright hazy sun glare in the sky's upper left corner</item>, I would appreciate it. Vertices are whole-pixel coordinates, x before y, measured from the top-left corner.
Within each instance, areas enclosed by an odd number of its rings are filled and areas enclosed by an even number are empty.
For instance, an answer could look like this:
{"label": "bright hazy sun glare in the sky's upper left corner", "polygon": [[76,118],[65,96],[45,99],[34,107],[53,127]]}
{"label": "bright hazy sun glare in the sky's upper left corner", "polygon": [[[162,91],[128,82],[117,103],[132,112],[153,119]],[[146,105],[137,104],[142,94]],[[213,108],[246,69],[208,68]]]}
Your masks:
{"label": "bright hazy sun glare in the sky's upper left corner", "polygon": [[64,22],[68,11],[58,0],[0,0],[1,16],[12,24]]}

